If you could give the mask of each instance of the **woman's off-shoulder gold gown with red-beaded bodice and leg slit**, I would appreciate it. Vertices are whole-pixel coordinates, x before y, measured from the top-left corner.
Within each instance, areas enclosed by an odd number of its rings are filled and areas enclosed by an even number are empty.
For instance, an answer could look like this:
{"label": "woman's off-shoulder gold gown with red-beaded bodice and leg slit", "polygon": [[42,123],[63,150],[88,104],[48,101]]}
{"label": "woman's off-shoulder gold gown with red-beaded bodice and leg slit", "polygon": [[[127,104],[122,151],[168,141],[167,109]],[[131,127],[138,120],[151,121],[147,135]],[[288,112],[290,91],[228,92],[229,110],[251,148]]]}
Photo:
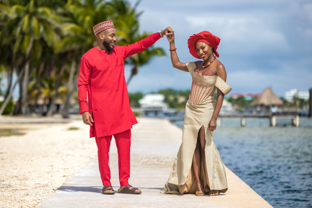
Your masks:
{"label": "woman's off-shoulder gold gown with red-beaded bodice and leg slit", "polygon": [[185,106],[182,144],[165,188],[160,192],[163,194],[195,193],[197,186],[192,160],[199,129],[204,126],[206,145],[205,152],[202,152],[201,163],[203,190],[205,193],[211,190],[219,190],[219,193],[224,193],[227,191],[225,168],[213,143],[213,131],[207,128],[216,104],[214,98],[216,89],[218,88],[223,94],[227,94],[232,88],[219,76],[214,74],[200,75],[194,62],[187,62],[186,65],[192,75],[193,82]]}

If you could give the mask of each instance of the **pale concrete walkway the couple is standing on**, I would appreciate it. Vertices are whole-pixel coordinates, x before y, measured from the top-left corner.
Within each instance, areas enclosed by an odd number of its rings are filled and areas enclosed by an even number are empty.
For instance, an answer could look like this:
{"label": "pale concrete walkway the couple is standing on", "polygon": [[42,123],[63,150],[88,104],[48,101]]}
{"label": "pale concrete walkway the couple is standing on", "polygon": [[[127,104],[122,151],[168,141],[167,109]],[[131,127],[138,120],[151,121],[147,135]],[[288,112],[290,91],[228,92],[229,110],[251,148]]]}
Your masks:
{"label": "pale concrete walkway the couple is standing on", "polygon": [[[139,124],[132,129],[129,183],[142,189],[141,195],[101,194],[103,186],[95,158],[38,207],[272,207],[228,168],[228,191],[225,194],[198,197],[159,193],[168,180],[181,144],[182,130],[165,119],[139,118],[138,121]],[[113,141],[110,148],[111,183],[117,192],[118,157]]]}

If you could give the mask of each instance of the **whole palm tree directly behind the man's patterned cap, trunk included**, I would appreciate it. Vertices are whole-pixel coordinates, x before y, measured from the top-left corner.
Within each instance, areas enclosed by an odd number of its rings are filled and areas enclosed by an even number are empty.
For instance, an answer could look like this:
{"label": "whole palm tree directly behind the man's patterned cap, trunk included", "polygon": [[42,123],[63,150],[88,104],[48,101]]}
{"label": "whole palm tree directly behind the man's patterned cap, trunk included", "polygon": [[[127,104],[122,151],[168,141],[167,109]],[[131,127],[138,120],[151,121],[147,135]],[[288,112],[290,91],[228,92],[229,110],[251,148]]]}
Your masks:
{"label": "whole palm tree directly behind the man's patterned cap, trunk included", "polygon": [[66,52],[70,56],[68,81],[66,85],[63,118],[69,118],[72,96],[77,88],[81,56],[96,45],[92,27],[107,18],[109,7],[105,1],[86,0],[68,1],[59,11],[63,23],[62,40],[57,44],[55,53]]}

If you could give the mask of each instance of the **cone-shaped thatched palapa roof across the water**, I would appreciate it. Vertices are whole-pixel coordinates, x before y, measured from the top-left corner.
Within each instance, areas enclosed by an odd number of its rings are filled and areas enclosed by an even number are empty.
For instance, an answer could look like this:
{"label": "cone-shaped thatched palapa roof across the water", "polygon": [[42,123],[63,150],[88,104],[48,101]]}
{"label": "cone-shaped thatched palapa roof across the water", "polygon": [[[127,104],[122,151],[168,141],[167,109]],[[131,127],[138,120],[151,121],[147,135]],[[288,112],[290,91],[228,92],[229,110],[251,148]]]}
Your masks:
{"label": "cone-shaped thatched palapa roof across the water", "polygon": [[267,87],[261,95],[252,101],[251,105],[281,105],[283,101],[272,92],[272,89]]}

